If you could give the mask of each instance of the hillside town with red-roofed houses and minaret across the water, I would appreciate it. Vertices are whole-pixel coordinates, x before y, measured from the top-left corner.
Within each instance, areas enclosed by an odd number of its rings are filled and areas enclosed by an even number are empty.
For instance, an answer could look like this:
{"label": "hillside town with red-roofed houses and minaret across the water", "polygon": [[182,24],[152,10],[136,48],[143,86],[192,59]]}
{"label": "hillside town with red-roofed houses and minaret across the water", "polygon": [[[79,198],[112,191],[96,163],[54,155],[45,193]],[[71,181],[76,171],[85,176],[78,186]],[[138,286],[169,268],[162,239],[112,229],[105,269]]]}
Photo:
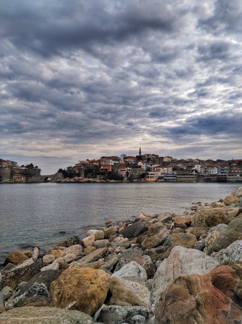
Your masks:
{"label": "hillside town with red-roofed houses and minaret across the water", "polygon": [[18,166],[0,159],[0,182],[241,182],[242,159],[228,161],[177,159],[154,153],[131,156],[102,156],[80,160],[74,166],[59,169],[54,175],[41,175],[38,166]]}

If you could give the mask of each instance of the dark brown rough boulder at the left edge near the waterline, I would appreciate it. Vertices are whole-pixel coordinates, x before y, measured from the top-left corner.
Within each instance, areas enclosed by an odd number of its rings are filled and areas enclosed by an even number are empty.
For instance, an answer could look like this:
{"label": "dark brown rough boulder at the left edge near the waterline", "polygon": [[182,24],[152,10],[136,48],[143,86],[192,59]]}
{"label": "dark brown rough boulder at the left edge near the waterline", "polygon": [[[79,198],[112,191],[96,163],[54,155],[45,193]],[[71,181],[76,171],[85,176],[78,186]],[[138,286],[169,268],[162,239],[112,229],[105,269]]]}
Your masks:
{"label": "dark brown rough boulder at the left edge near the waterline", "polygon": [[34,263],[24,268],[9,271],[3,276],[2,287],[8,286],[15,290],[17,285],[22,281],[29,281],[36,273],[39,273],[42,267],[42,260],[38,259]]}

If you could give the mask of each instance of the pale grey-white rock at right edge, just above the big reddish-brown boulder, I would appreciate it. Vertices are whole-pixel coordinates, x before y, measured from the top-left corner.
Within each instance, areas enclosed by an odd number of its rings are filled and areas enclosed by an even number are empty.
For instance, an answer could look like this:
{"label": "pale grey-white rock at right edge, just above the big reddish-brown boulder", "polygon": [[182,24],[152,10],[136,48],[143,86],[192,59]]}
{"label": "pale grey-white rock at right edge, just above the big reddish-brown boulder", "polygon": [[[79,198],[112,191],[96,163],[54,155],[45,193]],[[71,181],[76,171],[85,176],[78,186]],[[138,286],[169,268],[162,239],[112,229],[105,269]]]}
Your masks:
{"label": "pale grey-white rock at right edge, just above the big reddish-brown boulder", "polygon": [[229,261],[242,261],[242,240],[237,240],[231,243],[226,249],[212,253],[211,257],[220,264]]}

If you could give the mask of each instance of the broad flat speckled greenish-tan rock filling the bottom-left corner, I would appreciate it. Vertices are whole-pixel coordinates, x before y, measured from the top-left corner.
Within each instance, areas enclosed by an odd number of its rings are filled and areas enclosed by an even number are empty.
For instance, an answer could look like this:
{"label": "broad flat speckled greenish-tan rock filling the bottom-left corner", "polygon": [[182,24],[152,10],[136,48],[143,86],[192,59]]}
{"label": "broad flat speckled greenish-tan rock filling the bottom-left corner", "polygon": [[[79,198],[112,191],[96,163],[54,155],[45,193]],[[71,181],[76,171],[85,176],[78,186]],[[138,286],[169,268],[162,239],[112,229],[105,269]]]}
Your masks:
{"label": "broad flat speckled greenish-tan rock filling the bottom-left corner", "polygon": [[17,307],[0,314],[0,323],[7,324],[92,324],[90,315],[78,310],[56,307]]}

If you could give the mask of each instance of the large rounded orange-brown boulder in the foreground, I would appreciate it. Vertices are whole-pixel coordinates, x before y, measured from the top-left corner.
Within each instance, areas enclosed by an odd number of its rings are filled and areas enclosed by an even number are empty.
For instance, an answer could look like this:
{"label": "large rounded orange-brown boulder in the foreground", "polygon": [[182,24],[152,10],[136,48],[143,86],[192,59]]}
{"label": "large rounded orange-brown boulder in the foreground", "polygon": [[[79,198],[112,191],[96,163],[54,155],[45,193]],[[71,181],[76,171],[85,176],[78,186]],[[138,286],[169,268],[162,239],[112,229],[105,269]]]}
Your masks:
{"label": "large rounded orange-brown boulder in the foreground", "polygon": [[110,275],[91,268],[68,268],[50,285],[55,307],[95,314],[106,299]]}

